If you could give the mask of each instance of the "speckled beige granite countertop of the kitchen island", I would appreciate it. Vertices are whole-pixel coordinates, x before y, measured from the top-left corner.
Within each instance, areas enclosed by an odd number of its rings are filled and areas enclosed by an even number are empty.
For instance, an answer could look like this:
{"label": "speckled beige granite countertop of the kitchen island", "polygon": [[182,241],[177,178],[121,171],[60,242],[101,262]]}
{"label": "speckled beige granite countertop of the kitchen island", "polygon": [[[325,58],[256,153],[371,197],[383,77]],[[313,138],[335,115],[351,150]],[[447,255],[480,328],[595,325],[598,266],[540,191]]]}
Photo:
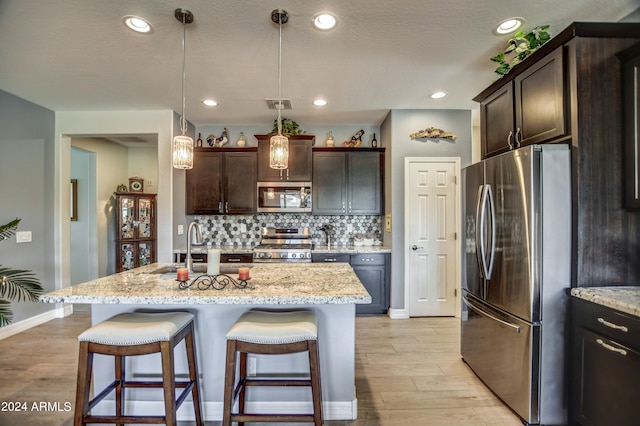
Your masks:
{"label": "speckled beige granite countertop of the kitchen island", "polygon": [[[44,303],[89,304],[368,304],[371,296],[346,263],[255,263],[245,288],[178,288],[175,274],[156,273],[171,263],[154,263],[40,296]],[[222,264],[235,267],[235,264]],[[237,275],[229,274],[234,279]],[[193,279],[196,275],[191,275]]]}

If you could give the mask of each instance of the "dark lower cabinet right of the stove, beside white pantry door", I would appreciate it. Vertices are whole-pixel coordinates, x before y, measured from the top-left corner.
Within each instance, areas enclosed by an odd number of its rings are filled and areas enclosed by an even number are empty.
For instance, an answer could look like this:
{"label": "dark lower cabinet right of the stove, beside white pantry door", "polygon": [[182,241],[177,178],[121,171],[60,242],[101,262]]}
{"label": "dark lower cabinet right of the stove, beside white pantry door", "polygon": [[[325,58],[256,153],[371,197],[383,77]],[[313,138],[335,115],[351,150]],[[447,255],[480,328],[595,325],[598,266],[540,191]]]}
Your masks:
{"label": "dark lower cabinet right of the stove, beside white pantry door", "polygon": [[389,309],[391,255],[388,253],[313,253],[312,262],[348,262],[371,295],[371,304],[356,305],[357,314],[386,314]]}

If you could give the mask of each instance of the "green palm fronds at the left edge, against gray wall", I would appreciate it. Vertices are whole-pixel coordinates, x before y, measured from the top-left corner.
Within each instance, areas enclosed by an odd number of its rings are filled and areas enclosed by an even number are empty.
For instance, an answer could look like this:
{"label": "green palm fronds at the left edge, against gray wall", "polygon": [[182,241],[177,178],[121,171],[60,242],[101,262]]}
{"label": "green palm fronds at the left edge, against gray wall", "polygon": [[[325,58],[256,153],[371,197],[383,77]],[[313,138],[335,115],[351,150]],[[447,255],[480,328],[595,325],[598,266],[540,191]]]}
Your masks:
{"label": "green palm fronds at the left edge, against gray wall", "polygon": [[[12,237],[19,223],[20,219],[16,218],[0,226],[0,241]],[[37,302],[38,296],[44,293],[44,288],[34,273],[24,269],[12,269],[0,265],[0,277],[2,278],[0,283],[0,327],[4,327],[13,321],[11,301],[30,300]]]}

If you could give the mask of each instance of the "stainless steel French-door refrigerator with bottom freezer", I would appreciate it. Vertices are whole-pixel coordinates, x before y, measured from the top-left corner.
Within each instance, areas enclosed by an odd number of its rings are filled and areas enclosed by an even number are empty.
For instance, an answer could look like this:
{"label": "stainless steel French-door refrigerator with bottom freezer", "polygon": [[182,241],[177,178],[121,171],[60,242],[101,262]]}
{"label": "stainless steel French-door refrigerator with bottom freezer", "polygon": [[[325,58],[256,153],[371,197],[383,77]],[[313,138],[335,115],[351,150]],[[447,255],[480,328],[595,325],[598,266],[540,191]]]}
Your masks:
{"label": "stainless steel French-door refrigerator with bottom freezer", "polygon": [[570,168],[558,144],[463,170],[461,353],[526,424],[567,423]]}

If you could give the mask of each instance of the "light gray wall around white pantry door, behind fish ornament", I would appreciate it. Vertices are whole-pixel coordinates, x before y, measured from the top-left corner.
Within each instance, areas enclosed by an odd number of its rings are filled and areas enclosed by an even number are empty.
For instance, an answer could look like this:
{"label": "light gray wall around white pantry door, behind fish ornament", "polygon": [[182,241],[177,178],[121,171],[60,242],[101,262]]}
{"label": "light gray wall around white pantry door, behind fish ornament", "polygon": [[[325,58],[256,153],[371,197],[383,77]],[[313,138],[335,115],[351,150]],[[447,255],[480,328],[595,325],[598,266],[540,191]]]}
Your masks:
{"label": "light gray wall around white pantry door, behind fish ornament", "polygon": [[[453,132],[457,139],[418,141],[410,134],[427,127]],[[385,213],[391,213],[391,233],[385,245],[391,256],[391,307],[404,306],[404,159],[405,157],[460,157],[460,167],[471,164],[470,110],[392,110],[380,126],[386,152]]]}

